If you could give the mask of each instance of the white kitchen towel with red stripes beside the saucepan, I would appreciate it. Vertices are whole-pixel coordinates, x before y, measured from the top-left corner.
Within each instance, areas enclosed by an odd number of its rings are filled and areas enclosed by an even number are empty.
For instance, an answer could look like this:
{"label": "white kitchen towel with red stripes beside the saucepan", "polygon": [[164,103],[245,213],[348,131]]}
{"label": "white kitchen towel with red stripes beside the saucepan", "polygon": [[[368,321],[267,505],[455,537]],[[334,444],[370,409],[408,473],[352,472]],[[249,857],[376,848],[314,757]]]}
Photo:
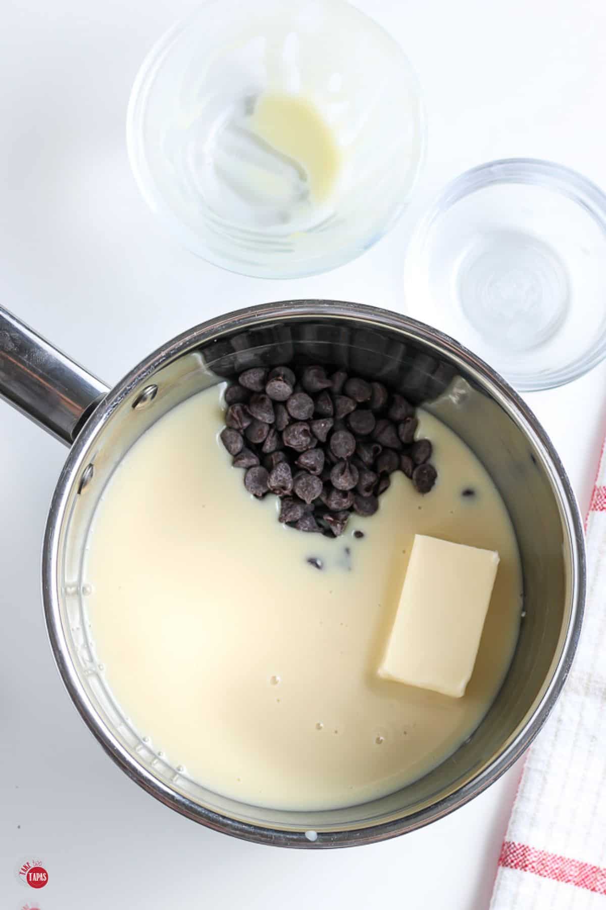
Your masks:
{"label": "white kitchen towel with red stripes beside the saucepan", "polygon": [[606,457],[587,520],[579,650],[531,746],[499,857],[491,910],[606,908]]}

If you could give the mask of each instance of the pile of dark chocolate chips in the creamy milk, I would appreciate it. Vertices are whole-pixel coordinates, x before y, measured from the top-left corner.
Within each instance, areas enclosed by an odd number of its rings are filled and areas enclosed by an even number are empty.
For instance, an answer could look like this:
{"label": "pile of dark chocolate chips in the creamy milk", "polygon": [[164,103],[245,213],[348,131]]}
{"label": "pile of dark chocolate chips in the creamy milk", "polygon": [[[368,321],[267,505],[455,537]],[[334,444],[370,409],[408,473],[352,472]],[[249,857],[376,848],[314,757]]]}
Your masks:
{"label": "pile of dark chocolate chips in the creamy milk", "polygon": [[324,367],[246,369],[225,391],[221,433],[246,490],[281,497],[279,520],[338,537],[351,512],[373,515],[390,474],[432,490],[432,443],[414,440],[409,401],[382,382]]}

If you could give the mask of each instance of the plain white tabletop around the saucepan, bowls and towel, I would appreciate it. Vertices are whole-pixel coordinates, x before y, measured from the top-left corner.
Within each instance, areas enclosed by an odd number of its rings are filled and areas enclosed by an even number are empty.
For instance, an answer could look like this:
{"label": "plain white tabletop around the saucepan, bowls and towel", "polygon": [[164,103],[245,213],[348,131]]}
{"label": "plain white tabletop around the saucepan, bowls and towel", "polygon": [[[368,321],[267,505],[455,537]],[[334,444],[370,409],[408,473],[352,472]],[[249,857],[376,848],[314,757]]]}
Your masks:
{"label": "plain white tabletop around the saucepan, bowls and towel", "polygon": [[[253,0],[243,0],[246,5]],[[359,0],[405,47],[430,128],[417,197],[377,247],[328,275],[241,278],[176,248],[144,207],[125,107],[148,47],[191,0],[8,0],[0,27],[0,301],[108,383],[223,310],[325,297],[403,310],[403,251],[443,183],[493,157],[547,157],[606,186],[602,0]],[[606,288],[605,288],[606,291]],[[587,508],[606,366],[529,396]],[[243,844],[130,783],[55,671],[39,591],[64,448],[0,403],[0,907],[488,906],[519,768],[429,828],[348,851]],[[38,856],[35,892],[15,866]],[[38,904],[35,899],[39,898]]]}

